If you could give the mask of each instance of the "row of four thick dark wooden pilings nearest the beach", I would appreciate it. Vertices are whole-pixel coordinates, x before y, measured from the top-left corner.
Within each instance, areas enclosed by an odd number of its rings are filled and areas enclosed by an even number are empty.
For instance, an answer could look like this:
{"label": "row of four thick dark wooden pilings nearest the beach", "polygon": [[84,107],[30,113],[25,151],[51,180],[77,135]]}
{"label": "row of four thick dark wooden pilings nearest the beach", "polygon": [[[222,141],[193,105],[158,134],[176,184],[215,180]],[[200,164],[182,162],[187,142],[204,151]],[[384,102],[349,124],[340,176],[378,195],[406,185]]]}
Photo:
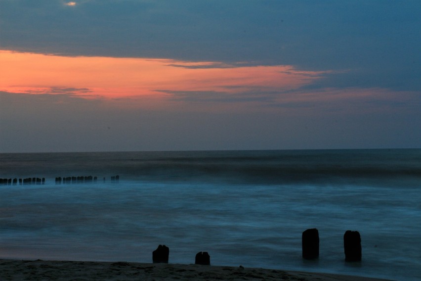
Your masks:
{"label": "row of four thick dark wooden pilings nearest the beach", "polygon": [[[361,261],[361,236],[358,231],[346,231],[343,235],[343,247],[345,261]],[[302,233],[302,257],[303,259],[317,259],[319,257],[319,231],[308,229]],[[159,245],[152,252],[153,263],[168,263],[169,248],[166,245]],[[211,265],[211,257],[208,252],[196,254],[195,264]]]}

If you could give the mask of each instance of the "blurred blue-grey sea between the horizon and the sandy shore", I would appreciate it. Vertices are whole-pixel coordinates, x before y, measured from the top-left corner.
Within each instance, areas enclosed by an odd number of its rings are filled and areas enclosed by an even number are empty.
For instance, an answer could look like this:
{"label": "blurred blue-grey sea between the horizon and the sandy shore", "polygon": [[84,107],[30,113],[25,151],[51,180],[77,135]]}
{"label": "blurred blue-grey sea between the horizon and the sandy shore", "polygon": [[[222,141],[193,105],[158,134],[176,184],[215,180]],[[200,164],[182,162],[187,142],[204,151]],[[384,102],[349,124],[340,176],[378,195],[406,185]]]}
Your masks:
{"label": "blurred blue-grey sea between the horizon and the sandy shore", "polygon": [[[56,181],[79,176],[97,181]],[[0,154],[0,178],[33,177],[0,185],[2,259],[150,263],[165,244],[173,264],[421,280],[421,149]]]}

